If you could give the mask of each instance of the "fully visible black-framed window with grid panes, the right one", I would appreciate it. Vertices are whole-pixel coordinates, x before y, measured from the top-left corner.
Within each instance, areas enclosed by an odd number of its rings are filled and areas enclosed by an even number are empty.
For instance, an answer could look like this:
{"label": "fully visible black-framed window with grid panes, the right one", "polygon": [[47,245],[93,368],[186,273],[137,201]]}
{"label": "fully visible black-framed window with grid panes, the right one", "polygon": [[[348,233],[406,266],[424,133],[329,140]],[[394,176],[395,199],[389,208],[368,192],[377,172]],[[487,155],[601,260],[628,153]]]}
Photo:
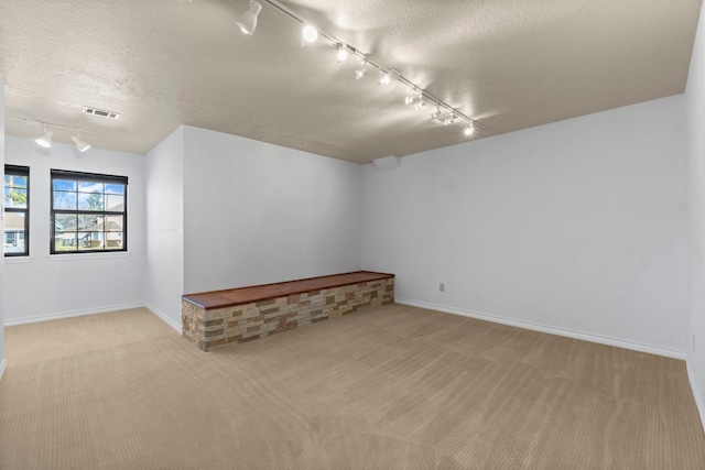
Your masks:
{"label": "fully visible black-framed window with grid panes, the right one", "polygon": [[52,254],[127,251],[127,176],[52,170]]}

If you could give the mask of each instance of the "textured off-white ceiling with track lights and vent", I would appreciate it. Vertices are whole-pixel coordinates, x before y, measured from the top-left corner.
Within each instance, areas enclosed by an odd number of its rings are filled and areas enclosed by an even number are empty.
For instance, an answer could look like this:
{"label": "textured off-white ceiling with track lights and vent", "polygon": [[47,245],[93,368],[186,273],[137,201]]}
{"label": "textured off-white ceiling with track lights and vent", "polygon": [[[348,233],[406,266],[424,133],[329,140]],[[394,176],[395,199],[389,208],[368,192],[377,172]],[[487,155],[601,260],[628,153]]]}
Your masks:
{"label": "textured off-white ceiling with track lights and vent", "polygon": [[[180,124],[366,163],[463,142],[265,1],[0,0],[7,114],[147,153]],[[683,92],[701,0],[290,0],[497,135]],[[84,106],[118,111],[112,121]],[[8,121],[12,135],[40,128]],[[70,143],[69,131],[54,139]],[[599,139],[599,136],[595,136]]]}

